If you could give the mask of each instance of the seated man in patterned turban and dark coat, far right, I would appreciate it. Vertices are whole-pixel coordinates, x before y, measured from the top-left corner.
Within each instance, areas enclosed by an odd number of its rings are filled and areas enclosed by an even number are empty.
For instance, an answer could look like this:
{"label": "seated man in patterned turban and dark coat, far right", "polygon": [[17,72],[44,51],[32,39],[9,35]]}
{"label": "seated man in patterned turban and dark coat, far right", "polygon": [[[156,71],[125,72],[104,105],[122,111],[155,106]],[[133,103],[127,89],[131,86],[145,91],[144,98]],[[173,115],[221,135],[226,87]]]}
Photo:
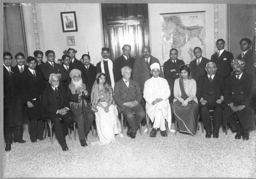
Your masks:
{"label": "seated man in patterned turban and dark coat, far right", "polygon": [[234,74],[225,83],[223,125],[230,124],[231,129],[236,131],[235,139],[243,136],[243,140],[249,140],[253,128],[253,113],[249,106],[253,92],[252,75],[244,72],[243,60],[234,59],[231,66]]}

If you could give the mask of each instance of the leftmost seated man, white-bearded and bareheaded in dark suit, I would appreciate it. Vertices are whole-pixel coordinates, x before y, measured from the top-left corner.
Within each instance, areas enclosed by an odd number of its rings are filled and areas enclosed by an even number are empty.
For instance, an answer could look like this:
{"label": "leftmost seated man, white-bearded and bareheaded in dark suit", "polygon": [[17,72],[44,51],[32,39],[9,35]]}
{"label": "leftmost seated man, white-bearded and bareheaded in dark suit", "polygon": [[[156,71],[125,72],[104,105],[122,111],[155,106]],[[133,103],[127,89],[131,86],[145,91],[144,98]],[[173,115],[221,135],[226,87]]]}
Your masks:
{"label": "leftmost seated man, white-bearded and bareheaded in dark suit", "polygon": [[[73,113],[69,110],[66,90],[60,85],[60,78],[57,74],[51,73],[49,83],[45,89],[43,108],[49,120],[53,123],[56,138],[63,151],[68,150],[66,135],[68,127],[73,122]],[[62,121],[60,120],[62,119]]]}

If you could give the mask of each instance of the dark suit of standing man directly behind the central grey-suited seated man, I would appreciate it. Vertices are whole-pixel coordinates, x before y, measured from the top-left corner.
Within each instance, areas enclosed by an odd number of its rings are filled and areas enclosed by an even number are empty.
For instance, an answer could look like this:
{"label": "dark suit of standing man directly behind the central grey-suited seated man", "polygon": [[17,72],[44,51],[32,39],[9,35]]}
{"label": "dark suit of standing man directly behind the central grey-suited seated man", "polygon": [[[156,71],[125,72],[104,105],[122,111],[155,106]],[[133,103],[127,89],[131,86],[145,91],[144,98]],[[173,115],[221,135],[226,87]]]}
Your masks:
{"label": "dark suit of standing man directly behind the central grey-suited seated man", "polygon": [[123,68],[124,66],[129,66],[131,69],[133,68],[133,64],[134,64],[135,59],[132,57],[129,57],[129,59],[125,59],[124,55],[118,57],[115,60],[115,78],[116,81],[121,80],[122,79],[122,73],[121,73],[121,68]]}

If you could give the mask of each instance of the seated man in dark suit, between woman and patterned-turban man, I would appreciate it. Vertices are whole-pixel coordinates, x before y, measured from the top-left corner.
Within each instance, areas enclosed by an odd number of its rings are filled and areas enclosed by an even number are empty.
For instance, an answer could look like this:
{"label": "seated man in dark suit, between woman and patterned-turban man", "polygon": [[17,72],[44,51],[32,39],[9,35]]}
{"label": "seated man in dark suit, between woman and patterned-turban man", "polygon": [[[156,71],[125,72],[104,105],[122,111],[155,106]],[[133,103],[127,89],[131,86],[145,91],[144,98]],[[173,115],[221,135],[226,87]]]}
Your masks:
{"label": "seated man in dark suit, between woman and patterned-turban man", "polygon": [[[223,76],[216,74],[216,70],[214,62],[207,62],[207,75],[200,76],[196,86],[196,97],[200,100],[200,115],[206,130],[205,138],[211,138],[212,131],[212,137],[218,138],[221,125],[225,81]],[[209,110],[214,110],[212,124]]]}

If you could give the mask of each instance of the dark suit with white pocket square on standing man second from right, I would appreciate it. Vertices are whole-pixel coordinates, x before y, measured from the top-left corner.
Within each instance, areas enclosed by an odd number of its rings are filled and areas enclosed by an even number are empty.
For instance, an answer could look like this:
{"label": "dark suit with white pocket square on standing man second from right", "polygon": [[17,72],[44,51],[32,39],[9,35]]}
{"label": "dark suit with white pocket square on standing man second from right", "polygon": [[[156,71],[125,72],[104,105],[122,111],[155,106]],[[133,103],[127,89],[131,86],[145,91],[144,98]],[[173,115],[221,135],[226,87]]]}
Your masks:
{"label": "dark suit with white pocket square on standing man second from right", "polygon": [[230,76],[232,71],[231,61],[234,59],[233,54],[224,50],[220,57],[218,58],[218,54],[215,53],[211,56],[211,61],[214,62],[217,66],[217,75],[221,75],[225,78]]}

